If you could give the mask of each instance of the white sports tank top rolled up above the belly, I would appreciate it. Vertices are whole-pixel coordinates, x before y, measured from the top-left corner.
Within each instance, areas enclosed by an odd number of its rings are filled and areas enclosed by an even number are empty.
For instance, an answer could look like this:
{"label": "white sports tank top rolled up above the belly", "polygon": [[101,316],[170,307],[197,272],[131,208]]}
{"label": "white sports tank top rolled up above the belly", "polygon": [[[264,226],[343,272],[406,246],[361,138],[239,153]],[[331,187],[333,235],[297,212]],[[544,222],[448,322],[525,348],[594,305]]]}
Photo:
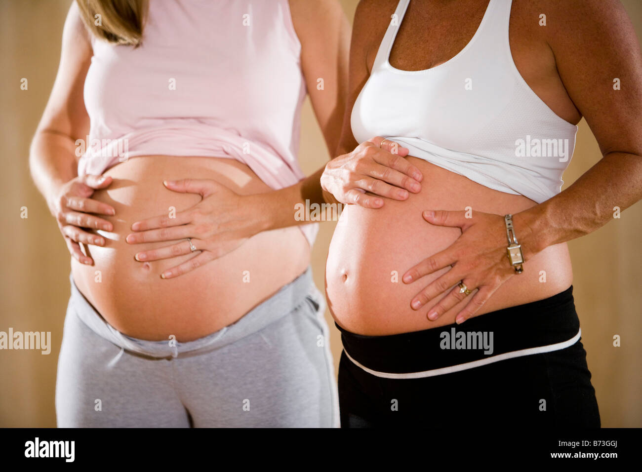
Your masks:
{"label": "white sports tank top rolled up above the belly", "polygon": [[465,48],[423,71],[388,62],[408,3],[399,1],[352,108],[355,139],[392,139],[412,156],[537,203],[557,195],[577,126],[557,116],[517,71],[508,42],[511,0],[490,0]]}

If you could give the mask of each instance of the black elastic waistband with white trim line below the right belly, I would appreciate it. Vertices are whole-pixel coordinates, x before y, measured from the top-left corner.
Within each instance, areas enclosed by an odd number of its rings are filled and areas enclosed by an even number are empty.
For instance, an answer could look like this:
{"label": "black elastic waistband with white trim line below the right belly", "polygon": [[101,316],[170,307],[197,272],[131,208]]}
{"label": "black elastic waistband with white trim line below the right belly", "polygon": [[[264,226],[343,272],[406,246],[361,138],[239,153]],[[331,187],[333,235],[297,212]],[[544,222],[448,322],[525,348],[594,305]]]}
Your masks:
{"label": "black elastic waistband with white trim line below the right belly", "polygon": [[423,378],[473,369],[564,349],[581,336],[573,286],[547,299],[492,311],[461,325],[389,336],[357,335],[336,326],[349,360],[382,378]]}

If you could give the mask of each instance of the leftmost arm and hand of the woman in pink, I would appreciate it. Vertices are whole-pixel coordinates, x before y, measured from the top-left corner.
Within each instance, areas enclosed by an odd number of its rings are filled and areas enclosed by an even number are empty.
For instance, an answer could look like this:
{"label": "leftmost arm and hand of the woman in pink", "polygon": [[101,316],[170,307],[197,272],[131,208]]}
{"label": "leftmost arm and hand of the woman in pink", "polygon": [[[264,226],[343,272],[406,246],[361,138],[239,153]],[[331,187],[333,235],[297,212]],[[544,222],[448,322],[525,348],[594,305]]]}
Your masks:
{"label": "leftmost arm and hand of the woman in pink", "polygon": [[76,139],[84,140],[89,133],[83,85],[91,56],[89,33],[74,2],[65,21],[58,74],[31,142],[29,157],[31,176],[58,220],[69,252],[87,264],[93,261],[82,253],[79,243],[103,245],[105,241],[82,228],[111,231],[111,223],[89,213],[114,214],[110,205],[89,198],[94,189],[105,188],[111,179],[100,180],[97,176],[79,179],[76,173]]}

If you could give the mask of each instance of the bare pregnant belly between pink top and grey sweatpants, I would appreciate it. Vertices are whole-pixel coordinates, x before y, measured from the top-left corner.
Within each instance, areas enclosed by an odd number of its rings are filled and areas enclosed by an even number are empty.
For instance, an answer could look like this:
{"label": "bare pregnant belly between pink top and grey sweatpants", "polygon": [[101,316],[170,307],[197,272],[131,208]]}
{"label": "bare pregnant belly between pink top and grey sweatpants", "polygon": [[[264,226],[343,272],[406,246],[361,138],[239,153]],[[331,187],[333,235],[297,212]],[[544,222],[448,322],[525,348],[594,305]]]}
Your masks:
{"label": "bare pregnant belly between pink top and grey sweatpants", "polygon": [[83,295],[121,333],[149,340],[169,335],[179,341],[204,337],[243,317],[308,267],[308,241],[297,227],[290,227],[256,234],[192,272],[161,279],[164,270],[194,255],[135,261],[137,252],[177,241],[128,244],[125,238],[132,232],[132,223],[167,216],[169,207],[180,212],[201,200],[200,195],[169,191],[162,180],[213,179],[243,195],[270,188],[245,164],[227,158],[134,157],[105,175],[114,181],[93,198],[116,209],[115,216],[106,217],[114,231],[102,233],[105,247],[89,247],[94,266],[72,259],[71,267]]}

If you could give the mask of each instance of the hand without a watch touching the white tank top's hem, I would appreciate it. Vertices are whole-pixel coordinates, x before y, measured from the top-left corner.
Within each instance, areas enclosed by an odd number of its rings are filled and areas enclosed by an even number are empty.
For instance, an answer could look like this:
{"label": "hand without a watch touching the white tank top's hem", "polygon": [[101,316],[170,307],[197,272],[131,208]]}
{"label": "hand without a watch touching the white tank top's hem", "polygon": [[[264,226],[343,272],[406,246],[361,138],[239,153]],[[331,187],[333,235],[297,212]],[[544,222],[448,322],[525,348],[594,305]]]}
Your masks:
{"label": "hand without a watch touching the white tank top's hem", "polygon": [[[404,157],[409,150],[381,136],[359,144],[325,166],[321,187],[342,204],[383,206],[383,199],[406,200],[421,190],[421,172]],[[366,193],[369,192],[369,193]]]}

